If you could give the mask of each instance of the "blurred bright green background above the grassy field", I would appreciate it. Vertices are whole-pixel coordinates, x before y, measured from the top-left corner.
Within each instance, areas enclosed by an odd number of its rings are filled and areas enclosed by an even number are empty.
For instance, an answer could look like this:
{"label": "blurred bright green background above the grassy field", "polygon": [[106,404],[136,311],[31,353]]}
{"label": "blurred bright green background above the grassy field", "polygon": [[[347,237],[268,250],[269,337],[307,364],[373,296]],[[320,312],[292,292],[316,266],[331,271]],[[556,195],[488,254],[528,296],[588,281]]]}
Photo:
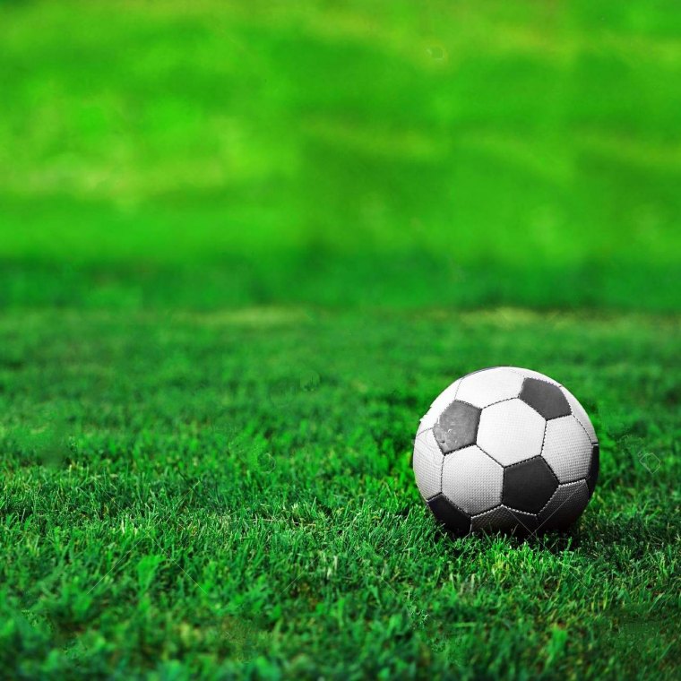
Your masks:
{"label": "blurred bright green background above the grassy field", "polygon": [[0,303],[670,310],[673,2],[4,2]]}

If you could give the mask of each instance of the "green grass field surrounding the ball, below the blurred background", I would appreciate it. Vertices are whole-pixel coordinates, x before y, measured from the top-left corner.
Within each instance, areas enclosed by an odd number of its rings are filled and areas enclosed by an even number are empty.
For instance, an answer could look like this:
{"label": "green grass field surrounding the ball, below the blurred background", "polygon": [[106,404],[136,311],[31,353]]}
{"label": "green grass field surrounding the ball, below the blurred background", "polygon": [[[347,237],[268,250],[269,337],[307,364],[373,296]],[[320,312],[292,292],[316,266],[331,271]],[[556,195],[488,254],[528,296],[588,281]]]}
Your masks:
{"label": "green grass field surrounding the ball, below the blurred background", "polygon": [[[679,331],[513,309],[5,315],[0,663],[677,677]],[[599,487],[567,535],[449,539],[411,437],[453,377],[505,363],[582,399]]]}

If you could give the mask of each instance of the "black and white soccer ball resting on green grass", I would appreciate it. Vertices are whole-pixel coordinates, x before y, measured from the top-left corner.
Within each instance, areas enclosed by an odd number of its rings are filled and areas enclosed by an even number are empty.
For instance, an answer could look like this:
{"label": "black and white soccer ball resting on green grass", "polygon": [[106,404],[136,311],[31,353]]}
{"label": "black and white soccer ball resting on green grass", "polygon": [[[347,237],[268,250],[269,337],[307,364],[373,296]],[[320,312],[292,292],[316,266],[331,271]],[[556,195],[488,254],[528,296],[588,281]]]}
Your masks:
{"label": "black and white soccer ball resting on green grass", "polygon": [[448,530],[565,529],[599,476],[599,444],[571,392],[530,369],[465,375],[421,418],[418,490]]}

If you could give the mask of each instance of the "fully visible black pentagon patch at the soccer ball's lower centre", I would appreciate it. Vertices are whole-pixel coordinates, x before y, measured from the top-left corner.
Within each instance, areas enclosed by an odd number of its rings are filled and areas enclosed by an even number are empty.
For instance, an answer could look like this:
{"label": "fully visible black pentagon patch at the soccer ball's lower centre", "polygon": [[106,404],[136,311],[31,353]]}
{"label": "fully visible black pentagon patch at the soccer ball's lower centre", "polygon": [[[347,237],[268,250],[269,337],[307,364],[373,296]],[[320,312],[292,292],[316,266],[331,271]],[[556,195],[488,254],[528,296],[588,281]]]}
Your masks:
{"label": "fully visible black pentagon patch at the soccer ball's lower centre", "polygon": [[504,469],[502,503],[528,513],[539,513],[553,496],[558,481],[540,456]]}

